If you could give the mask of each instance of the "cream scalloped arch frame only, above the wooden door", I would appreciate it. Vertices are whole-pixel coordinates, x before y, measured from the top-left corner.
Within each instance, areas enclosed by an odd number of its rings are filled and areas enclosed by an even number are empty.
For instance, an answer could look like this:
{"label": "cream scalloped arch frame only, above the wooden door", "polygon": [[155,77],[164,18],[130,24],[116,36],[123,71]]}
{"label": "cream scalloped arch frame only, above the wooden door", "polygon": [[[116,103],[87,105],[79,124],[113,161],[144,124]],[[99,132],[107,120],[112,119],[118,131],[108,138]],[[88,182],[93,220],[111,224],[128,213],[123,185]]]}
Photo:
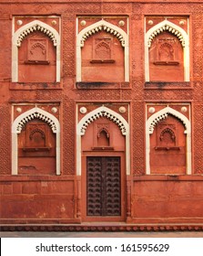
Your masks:
{"label": "cream scalloped arch frame only, above the wooden door", "polygon": [[129,124],[127,121],[117,112],[111,109],[101,106],[96,110],[89,112],[84,116],[76,127],[76,175],[81,176],[81,136],[85,135],[86,129],[90,123],[96,121],[100,117],[106,117],[114,123],[120,129],[120,132],[126,136],[126,172],[130,175],[130,152],[129,152]]}

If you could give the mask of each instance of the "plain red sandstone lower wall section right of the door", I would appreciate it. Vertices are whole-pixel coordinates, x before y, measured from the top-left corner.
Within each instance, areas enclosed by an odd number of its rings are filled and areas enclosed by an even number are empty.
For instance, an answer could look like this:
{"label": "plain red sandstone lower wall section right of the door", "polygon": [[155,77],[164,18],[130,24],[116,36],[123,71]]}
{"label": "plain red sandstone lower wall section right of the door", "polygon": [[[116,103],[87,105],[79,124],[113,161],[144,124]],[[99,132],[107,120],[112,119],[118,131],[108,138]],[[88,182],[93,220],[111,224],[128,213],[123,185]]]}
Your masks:
{"label": "plain red sandstone lower wall section right of the door", "polygon": [[[148,180],[134,183],[135,223],[198,223],[202,219],[201,180]],[[175,179],[175,178],[174,178]]]}

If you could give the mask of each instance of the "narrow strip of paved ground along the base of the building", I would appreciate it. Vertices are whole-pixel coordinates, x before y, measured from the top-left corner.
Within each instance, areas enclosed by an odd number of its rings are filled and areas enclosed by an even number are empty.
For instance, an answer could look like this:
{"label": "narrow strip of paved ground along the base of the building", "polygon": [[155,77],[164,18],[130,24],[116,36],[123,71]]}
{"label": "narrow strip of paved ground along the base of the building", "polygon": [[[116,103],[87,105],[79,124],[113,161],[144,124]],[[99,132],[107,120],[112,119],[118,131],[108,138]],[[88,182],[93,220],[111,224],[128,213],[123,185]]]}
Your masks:
{"label": "narrow strip of paved ground along the base of the building", "polygon": [[203,231],[185,232],[0,232],[1,238],[203,238]]}

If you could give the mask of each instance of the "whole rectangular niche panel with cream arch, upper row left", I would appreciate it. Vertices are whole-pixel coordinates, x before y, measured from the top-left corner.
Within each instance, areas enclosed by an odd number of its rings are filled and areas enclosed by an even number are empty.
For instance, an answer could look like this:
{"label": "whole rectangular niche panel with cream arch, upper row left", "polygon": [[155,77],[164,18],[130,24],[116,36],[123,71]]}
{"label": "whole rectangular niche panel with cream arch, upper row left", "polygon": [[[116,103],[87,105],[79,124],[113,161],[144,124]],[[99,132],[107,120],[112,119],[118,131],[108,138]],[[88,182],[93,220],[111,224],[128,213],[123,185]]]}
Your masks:
{"label": "whole rectangular niche panel with cream arch, upper row left", "polygon": [[[31,16],[15,16],[13,20],[12,81],[60,81],[60,18],[39,16],[36,19]],[[52,41],[54,48],[52,45],[48,47],[49,40]],[[27,48],[26,56],[25,48]],[[29,65],[28,68],[27,65]],[[39,76],[41,73],[39,69],[41,72],[43,69],[44,77]],[[33,73],[36,75],[33,76]],[[27,74],[30,75],[27,76]]]}

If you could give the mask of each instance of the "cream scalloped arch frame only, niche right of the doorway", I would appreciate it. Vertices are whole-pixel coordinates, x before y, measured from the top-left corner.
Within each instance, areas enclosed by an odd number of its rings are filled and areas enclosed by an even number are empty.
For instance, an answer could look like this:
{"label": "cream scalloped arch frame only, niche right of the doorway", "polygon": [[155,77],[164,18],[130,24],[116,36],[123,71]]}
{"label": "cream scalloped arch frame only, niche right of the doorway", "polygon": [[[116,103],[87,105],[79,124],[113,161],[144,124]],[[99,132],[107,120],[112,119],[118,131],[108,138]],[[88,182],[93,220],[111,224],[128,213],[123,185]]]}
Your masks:
{"label": "cream scalloped arch frame only, niche right of the doorway", "polygon": [[185,134],[187,136],[187,174],[191,174],[191,123],[188,118],[170,107],[166,107],[159,112],[154,113],[151,115],[146,123],[146,173],[147,175],[150,174],[150,163],[149,163],[149,154],[150,154],[150,134],[154,132],[154,128],[160,121],[167,118],[168,114],[171,114],[177,117],[185,126]]}

